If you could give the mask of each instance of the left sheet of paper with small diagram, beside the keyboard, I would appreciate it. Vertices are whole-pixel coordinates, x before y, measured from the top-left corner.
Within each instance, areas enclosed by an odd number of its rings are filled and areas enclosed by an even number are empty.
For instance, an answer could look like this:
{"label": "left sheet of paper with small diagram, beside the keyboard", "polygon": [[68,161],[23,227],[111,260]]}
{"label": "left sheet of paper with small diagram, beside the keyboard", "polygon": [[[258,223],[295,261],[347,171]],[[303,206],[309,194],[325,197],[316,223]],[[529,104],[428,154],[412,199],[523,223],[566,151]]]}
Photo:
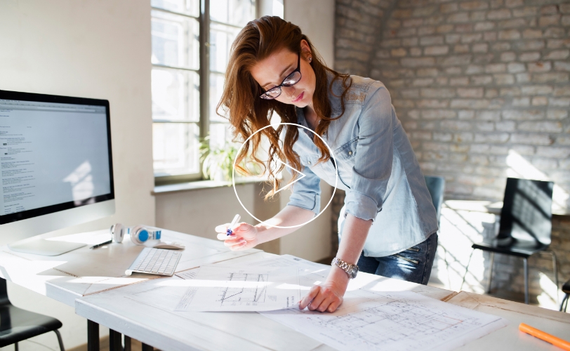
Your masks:
{"label": "left sheet of paper with small diagram, beside the keyboard", "polygon": [[291,267],[200,267],[175,311],[271,311],[296,307],[298,269]]}

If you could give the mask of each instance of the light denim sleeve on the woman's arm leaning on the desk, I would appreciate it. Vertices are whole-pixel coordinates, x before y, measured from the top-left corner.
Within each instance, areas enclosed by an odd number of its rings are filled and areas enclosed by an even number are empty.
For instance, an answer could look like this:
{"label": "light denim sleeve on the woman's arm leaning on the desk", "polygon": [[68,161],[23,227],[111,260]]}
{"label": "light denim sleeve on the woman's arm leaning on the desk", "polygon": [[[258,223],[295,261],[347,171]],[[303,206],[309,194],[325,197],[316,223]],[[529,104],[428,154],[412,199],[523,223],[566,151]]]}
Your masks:
{"label": "light denim sleeve on the woman's arm leaning on the desk", "polygon": [[375,88],[367,94],[359,117],[352,184],[345,197],[345,213],[363,220],[374,220],[382,210],[392,173],[392,101],[385,86],[370,87]]}

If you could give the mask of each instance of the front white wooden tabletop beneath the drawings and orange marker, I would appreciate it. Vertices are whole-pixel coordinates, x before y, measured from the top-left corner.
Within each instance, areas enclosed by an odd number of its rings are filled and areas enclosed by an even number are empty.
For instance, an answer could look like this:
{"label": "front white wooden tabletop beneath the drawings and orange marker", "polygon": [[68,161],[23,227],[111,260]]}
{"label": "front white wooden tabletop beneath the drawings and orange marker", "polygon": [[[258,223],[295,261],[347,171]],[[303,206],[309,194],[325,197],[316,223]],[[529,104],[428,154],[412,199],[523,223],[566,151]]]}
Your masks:
{"label": "front white wooden tabletop beneath the drawings and orange marker", "polygon": [[[241,263],[270,256],[274,255],[260,252],[220,264]],[[177,312],[129,298],[134,293],[168,285],[168,279],[179,278],[155,279],[78,298],[76,313],[161,350],[332,350],[261,314]],[[475,293],[455,293],[385,277],[377,279],[395,291],[415,291],[455,305],[496,314],[510,321],[509,326],[461,347],[463,350],[497,350],[499,347],[517,351],[554,350],[552,345],[519,332],[518,325],[521,322],[559,337],[567,338],[566,334],[570,330],[570,314]]]}

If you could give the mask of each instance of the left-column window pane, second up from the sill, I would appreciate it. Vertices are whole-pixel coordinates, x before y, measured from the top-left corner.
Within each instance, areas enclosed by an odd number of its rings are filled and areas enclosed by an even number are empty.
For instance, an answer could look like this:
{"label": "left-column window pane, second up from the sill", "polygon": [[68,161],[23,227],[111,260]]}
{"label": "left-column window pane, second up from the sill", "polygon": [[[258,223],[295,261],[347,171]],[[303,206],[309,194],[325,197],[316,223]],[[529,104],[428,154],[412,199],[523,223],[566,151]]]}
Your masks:
{"label": "left-column window pane, second up from the sill", "polygon": [[153,68],[152,118],[199,121],[199,74],[182,69]]}

